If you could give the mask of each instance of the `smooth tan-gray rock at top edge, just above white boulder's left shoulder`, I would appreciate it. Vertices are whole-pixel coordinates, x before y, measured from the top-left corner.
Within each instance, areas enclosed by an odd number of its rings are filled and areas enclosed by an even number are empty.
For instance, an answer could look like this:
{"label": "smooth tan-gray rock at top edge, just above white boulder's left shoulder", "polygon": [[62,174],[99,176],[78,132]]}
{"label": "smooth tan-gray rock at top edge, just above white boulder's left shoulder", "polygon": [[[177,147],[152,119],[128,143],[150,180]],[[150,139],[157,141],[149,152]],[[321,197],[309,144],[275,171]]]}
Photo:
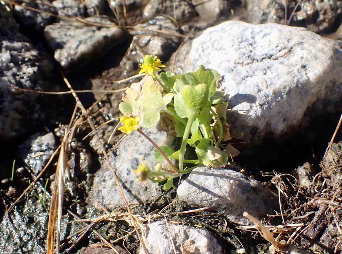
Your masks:
{"label": "smooth tan-gray rock at top edge, just above white boulder's left shoulder", "polygon": [[231,12],[231,5],[229,0],[193,0],[193,5],[199,14],[202,21],[212,24],[218,21],[219,18],[229,15]]}

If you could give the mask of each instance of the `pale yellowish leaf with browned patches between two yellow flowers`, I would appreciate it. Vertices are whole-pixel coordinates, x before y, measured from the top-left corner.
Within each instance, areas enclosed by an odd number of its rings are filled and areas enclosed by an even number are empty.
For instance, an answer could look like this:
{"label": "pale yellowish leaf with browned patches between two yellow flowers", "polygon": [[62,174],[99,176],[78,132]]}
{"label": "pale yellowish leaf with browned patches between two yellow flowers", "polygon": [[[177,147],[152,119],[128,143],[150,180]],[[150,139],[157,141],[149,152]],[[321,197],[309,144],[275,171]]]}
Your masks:
{"label": "pale yellowish leaf with browned patches between two yellow flowers", "polygon": [[174,94],[161,94],[161,87],[151,76],[145,76],[139,83],[134,83],[126,90],[119,104],[121,113],[140,116],[139,125],[150,128],[158,123],[160,111],[166,109]]}

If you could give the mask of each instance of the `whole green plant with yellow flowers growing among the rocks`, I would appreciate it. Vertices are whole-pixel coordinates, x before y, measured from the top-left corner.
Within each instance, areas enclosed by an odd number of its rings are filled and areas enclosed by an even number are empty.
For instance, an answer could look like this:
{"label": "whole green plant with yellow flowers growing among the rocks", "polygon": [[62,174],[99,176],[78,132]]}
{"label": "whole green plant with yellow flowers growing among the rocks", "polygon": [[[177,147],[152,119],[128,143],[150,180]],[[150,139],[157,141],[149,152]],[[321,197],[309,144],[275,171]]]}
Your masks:
{"label": "whole green plant with yellow flowers growing among the rocks", "polygon": [[[229,125],[226,124],[228,102],[219,88],[220,75],[202,65],[193,73],[162,72],[158,75],[160,67],[165,65],[152,55],[146,55],[140,67],[140,73],[145,73],[145,77],[126,90],[123,102],[119,104],[125,115],[120,118],[123,126],[119,130],[127,134],[139,131],[156,147],[155,168],[152,170],[146,164],[140,164],[135,170],[139,179],[144,184],[147,179],[166,181],[164,189],[168,190],[175,188],[173,178],[190,173],[198,166],[226,165],[228,155],[220,147],[221,141],[226,141],[225,137],[229,136]],[[180,147],[158,147],[139,128],[151,128],[158,122],[171,135],[182,138]],[[170,159],[178,161],[178,168]],[[161,164],[164,160],[168,162],[167,168]]]}

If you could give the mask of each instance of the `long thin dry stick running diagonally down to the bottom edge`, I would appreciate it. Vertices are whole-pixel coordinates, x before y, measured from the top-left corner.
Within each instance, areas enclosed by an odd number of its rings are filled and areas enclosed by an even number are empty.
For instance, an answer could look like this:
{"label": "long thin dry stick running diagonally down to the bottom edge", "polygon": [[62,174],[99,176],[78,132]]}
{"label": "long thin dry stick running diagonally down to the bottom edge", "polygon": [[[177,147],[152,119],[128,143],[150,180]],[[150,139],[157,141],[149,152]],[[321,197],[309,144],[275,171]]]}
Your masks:
{"label": "long thin dry stick running diagonally down to the bottom edge", "polygon": [[[63,75],[63,73],[61,73],[61,74],[62,74],[62,76],[63,76],[63,80],[64,80],[65,84],[68,86],[68,88],[70,89],[70,91],[74,91],[74,89],[71,87],[69,81],[68,81],[68,80],[66,79],[66,77]],[[86,109],[84,108],[84,106],[83,106],[83,104],[81,103],[81,101],[79,100],[79,98],[77,97],[77,94],[76,94],[76,93],[72,93],[72,94],[73,94],[73,96],[74,96],[74,98],[75,98],[75,100],[76,100],[77,105],[80,107],[82,113],[83,113],[84,115],[86,115],[87,111],[86,111]],[[142,246],[143,246],[143,249],[144,249],[145,253],[148,254],[148,251],[147,251],[147,249],[146,249],[145,243],[142,241],[142,238],[141,238],[141,235],[140,235],[140,233],[139,233],[139,230],[138,230],[138,228],[137,228],[137,226],[136,226],[136,224],[135,224],[135,220],[134,220],[134,217],[133,217],[133,215],[132,215],[131,208],[129,207],[128,202],[127,202],[127,199],[126,199],[126,197],[125,197],[125,195],[124,195],[124,193],[123,193],[123,191],[122,191],[122,187],[121,187],[121,185],[120,185],[120,183],[119,183],[119,179],[118,179],[118,177],[117,177],[117,175],[116,175],[116,173],[115,173],[115,170],[114,170],[113,166],[111,165],[111,163],[110,163],[110,161],[109,161],[107,152],[106,152],[105,148],[103,147],[101,138],[98,136],[97,131],[96,131],[96,129],[95,129],[95,126],[94,126],[94,124],[89,120],[89,118],[87,118],[87,121],[88,121],[88,123],[89,123],[89,125],[90,125],[92,131],[95,133],[95,135],[96,135],[96,137],[97,137],[97,141],[98,141],[98,143],[100,144],[102,153],[103,153],[103,155],[104,155],[104,157],[105,157],[105,159],[106,159],[106,161],[107,161],[107,163],[108,163],[108,165],[109,165],[110,171],[112,172],[112,174],[113,174],[113,176],[114,176],[115,184],[116,184],[116,186],[118,187],[118,190],[119,190],[119,192],[120,192],[120,194],[121,194],[121,196],[122,196],[122,198],[123,198],[123,200],[124,200],[124,203],[125,203],[125,205],[126,205],[127,211],[128,211],[128,213],[130,214],[130,216],[131,216],[132,224],[133,224],[133,226],[134,226],[134,228],[135,228],[135,231],[136,231],[136,234],[137,234],[137,236],[138,236],[138,238],[139,238],[139,241],[141,242],[141,244],[142,244]]]}

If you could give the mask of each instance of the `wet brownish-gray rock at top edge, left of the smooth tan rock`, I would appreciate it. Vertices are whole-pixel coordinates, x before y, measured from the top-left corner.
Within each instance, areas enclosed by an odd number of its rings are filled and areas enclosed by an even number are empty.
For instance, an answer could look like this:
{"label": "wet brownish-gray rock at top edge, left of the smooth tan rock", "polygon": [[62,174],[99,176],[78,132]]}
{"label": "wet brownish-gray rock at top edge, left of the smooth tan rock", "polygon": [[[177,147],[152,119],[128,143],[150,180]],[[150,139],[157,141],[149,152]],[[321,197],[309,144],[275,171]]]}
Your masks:
{"label": "wet brownish-gray rock at top edge, left of the smooth tan rock", "polygon": [[158,14],[167,14],[171,17],[175,16],[177,21],[186,22],[196,16],[196,10],[187,1],[150,0],[143,10],[143,18],[150,20]]}

